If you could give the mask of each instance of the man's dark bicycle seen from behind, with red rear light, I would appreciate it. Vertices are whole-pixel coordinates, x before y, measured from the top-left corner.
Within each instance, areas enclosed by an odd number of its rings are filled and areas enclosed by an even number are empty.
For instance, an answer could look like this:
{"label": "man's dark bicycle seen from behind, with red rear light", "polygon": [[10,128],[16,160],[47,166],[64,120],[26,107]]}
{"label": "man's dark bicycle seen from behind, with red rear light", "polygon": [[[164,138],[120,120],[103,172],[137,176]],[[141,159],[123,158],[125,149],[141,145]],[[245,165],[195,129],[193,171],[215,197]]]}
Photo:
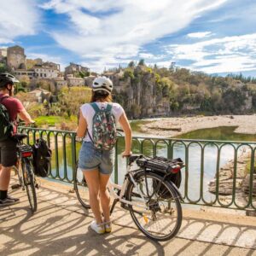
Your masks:
{"label": "man's dark bicycle seen from behind, with red rear light", "polygon": [[38,189],[38,183],[36,181],[32,166],[32,146],[22,143],[22,140],[26,137],[27,135],[23,133],[15,134],[15,136],[13,137],[18,142],[18,160],[16,166],[14,166],[13,168],[15,170],[15,173],[17,173],[18,175],[19,183],[12,185],[12,189],[18,189],[20,187],[22,188],[22,190],[26,189],[26,194],[32,212],[36,212],[38,209],[36,194],[36,188]]}

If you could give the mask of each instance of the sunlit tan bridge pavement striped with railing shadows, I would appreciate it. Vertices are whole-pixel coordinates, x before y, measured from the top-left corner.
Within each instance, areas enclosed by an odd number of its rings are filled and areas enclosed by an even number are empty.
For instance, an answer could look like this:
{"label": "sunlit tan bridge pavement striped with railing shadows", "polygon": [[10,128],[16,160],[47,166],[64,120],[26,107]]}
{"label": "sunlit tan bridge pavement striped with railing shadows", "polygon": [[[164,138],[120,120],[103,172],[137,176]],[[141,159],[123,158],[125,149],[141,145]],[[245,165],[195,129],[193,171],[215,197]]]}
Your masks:
{"label": "sunlit tan bridge pavement striped with railing shadows", "polygon": [[[12,182],[14,179],[12,178]],[[183,225],[171,241],[154,242],[116,207],[113,232],[90,230],[91,211],[80,207],[72,187],[42,180],[38,212],[32,215],[21,189],[20,203],[0,208],[3,255],[256,255],[256,218],[221,209],[183,210]]]}

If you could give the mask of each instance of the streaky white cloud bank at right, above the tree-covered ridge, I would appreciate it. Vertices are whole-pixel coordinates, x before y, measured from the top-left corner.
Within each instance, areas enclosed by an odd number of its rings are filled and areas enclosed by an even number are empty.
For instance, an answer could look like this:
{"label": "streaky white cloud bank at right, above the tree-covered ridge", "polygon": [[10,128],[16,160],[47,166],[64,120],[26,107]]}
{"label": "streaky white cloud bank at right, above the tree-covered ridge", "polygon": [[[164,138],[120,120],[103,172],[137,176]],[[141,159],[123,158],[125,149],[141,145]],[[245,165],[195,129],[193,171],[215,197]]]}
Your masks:
{"label": "streaky white cloud bank at right, above the tree-covered ridge", "polygon": [[256,33],[195,44],[172,44],[166,52],[175,61],[193,61],[189,68],[206,73],[256,70]]}

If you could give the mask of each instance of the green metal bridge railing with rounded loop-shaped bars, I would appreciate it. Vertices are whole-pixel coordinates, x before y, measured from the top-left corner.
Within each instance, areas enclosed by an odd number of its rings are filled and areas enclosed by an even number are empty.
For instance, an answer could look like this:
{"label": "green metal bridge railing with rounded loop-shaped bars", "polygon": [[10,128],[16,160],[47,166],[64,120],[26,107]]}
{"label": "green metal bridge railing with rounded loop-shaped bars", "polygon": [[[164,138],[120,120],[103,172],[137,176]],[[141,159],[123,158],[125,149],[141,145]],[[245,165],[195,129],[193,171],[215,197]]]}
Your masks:
{"label": "green metal bridge railing with rounded loop-shaped bars", "polygon": [[[73,173],[81,146],[81,143],[76,141],[75,132],[30,127],[19,127],[19,131],[28,134],[27,143],[31,144],[35,143],[37,138],[44,137],[54,152],[49,177],[73,183]],[[119,136],[115,146],[113,172],[115,183],[122,183],[124,177],[125,160],[120,157],[123,148],[124,137]],[[256,210],[254,197],[256,188],[253,189],[253,177],[256,176],[255,150],[256,143],[253,142],[157,137],[133,137],[132,142],[133,153],[183,159],[186,166],[183,170],[180,190],[184,203],[241,210],[247,208]],[[241,159],[241,154],[247,155],[247,160]],[[243,179],[240,172],[246,167],[249,182],[247,193],[244,193],[241,189]],[[224,173],[224,176],[220,173]],[[213,194],[208,191],[208,183],[212,179],[215,179]]]}

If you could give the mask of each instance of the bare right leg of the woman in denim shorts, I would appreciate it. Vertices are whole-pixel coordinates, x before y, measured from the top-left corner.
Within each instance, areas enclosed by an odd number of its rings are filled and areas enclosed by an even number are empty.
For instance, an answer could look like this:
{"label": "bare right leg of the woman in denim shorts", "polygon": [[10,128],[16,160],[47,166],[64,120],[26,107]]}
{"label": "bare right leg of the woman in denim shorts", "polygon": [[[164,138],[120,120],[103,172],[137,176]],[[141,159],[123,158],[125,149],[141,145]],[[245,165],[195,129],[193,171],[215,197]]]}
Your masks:
{"label": "bare right leg of the woman in denim shorts", "polygon": [[110,175],[108,174],[100,173],[100,200],[105,222],[108,222],[110,220],[110,196],[107,189],[109,177]]}

